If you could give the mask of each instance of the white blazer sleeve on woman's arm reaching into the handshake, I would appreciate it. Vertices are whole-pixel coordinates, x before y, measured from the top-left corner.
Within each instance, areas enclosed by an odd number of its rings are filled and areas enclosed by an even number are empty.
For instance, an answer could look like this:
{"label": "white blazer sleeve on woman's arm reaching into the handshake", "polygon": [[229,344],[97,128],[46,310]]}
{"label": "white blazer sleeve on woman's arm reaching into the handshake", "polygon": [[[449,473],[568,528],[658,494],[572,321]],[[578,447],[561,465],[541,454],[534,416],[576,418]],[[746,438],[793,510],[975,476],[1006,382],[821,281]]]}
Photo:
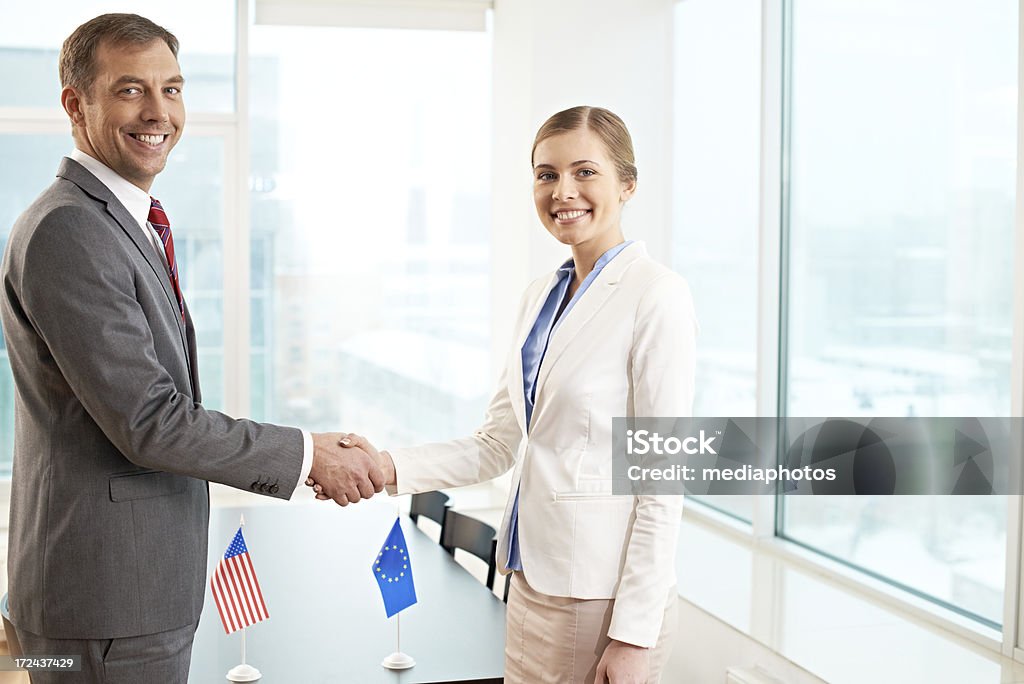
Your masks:
{"label": "white blazer sleeve on woman's arm reaching into the handshake", "polygon": [[[543,284],[543,281],[536,282],[523,294],[515,330],[521,330],[527,307]],[[487,405],[483,425],[471,437],[390,450],[396,479],[396,485],[389,487],[391,494],[416,494],[475,484],[498,477],[512,468],[522,440],[522,429],[509,395],[508,374],[506,367],[498,379],[498,388]]]}

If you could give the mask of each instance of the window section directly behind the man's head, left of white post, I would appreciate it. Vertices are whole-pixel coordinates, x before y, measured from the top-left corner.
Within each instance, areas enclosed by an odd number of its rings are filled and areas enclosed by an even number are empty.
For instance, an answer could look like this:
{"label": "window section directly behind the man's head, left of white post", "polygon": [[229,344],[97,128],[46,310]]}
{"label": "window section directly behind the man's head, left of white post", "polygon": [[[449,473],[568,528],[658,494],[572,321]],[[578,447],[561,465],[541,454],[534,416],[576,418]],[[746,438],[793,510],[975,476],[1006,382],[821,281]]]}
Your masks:
{"label": "window section directly behind the man's head, left of white post", "polygon": [[[52,182],[60,158],[74,149],[60,110],[57,53],[63,39],[92,16],[124,11],[104,2],[27,5],[17,22],[0,24],[0,245],[15,218]],[[60,6],[62,5],[62,6]],[[152,12],[150,11],[152,10]],[[181,41],[189,123],[152,191],[174,230],[185,301],[199,330],[204,403],[224,407],[223,234],[230,127],[210,128],[210,114],[234,108],[234,3],[186,0],[169,7],[133,7]],[[193,123],[198,121],[198,123]],[[0,369],[0,473],[9,473],[13,446],[13,384],[6,351]]]}

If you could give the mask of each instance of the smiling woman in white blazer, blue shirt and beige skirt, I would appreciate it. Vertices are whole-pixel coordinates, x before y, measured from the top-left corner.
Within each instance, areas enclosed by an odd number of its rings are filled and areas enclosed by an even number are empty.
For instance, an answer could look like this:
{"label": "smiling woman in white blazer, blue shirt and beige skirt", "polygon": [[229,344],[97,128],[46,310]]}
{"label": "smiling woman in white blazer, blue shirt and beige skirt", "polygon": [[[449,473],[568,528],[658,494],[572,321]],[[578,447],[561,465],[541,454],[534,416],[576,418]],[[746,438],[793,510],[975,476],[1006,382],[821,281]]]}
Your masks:
{"label": "smiling woman in white blazer, blue shirt and beige skirt", "polygon": [[637,171],[618,117],[554,115],[532,165],[538,215],[572,258],[526,289],[479,430],[381,452],[385,476],[408,494],[514,468],[498,547],[499,568],[514,571],[506,682],[656,682],[677,619],[682,498],[612,495],[611,419],[690,415],[690,293],[624,240]]}

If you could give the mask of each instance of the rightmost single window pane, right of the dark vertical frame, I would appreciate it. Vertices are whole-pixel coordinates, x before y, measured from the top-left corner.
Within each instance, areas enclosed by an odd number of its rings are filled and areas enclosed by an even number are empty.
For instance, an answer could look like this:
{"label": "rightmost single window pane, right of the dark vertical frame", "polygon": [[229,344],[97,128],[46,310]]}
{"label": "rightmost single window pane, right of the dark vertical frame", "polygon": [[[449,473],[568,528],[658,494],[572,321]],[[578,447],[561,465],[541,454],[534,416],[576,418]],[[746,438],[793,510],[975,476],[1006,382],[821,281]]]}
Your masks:
{"label": "rightmost single window pane, right of the dark vertical frame", "polygon": [[[1017,3],[794,2],[791,416],[1010,413]],[[785,537],[991,625],[1006,500],[784,501]]]}

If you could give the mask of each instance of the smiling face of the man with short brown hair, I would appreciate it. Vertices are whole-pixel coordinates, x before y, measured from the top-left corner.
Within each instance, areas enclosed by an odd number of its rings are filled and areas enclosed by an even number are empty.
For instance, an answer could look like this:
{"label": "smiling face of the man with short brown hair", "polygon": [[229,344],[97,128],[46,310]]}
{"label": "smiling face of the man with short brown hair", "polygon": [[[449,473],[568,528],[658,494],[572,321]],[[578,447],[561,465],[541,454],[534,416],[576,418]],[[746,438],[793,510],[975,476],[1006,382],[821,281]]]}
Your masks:
{"label": "smiling face of the man with short brown hair", "polygon": [[87,93],[65,88],[65,109],[82,152],[146,193],[181,137],[184,79],[167,44],[103,43]]}

